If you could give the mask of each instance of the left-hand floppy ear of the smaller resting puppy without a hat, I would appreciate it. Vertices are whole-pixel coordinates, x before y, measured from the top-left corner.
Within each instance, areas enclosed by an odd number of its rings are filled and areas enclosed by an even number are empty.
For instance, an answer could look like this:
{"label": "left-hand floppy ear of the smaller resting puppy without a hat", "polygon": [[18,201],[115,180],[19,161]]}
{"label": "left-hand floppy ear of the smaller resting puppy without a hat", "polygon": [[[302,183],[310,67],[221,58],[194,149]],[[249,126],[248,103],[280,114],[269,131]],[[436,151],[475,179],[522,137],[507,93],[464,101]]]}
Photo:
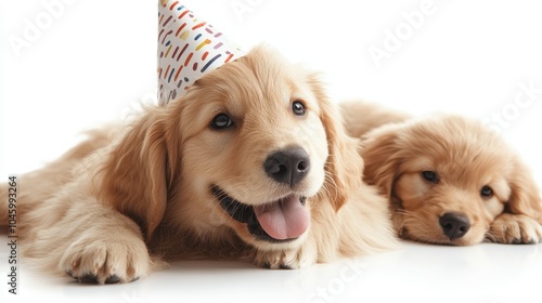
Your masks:
{"label": "left-hand floppy ear of the smaller resting puppy without a hat", "polygon": [[389,124],[369,132],[362,140],[364,181],[377,186],[387,198],[391,197],[401,162],[398,131],[395,124]]}

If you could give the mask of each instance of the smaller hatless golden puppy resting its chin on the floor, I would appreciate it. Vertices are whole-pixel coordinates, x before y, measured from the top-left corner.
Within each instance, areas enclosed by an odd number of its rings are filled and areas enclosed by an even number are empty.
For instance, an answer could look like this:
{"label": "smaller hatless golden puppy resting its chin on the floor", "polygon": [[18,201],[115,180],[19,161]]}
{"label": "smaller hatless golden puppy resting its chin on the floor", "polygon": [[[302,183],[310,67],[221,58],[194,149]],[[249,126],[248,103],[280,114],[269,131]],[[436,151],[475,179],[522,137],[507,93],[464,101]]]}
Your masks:
{"label": "smaller hatless golden puppy resting its chin on the floor", "polygon": [[388,197],[401,237],[457,246],[541,241],[542,199],[532,176],[480,122],[409,119],[361,102],[341,109],[348,131],[362,139],[364,180]]}

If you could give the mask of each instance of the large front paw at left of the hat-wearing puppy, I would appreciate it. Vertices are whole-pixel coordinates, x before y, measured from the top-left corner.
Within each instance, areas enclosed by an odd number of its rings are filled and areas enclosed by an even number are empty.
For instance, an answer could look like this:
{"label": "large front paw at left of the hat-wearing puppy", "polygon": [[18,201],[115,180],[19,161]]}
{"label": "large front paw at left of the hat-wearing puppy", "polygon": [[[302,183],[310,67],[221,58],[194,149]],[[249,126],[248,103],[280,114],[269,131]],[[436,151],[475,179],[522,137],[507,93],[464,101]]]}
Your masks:
{"label": "large front paw at left of the hat-wearing puppy", "polygon": [[129,282],[149,274],[150,258],[141,238],[81,237],[64,253],[60,266],[85,284]]}

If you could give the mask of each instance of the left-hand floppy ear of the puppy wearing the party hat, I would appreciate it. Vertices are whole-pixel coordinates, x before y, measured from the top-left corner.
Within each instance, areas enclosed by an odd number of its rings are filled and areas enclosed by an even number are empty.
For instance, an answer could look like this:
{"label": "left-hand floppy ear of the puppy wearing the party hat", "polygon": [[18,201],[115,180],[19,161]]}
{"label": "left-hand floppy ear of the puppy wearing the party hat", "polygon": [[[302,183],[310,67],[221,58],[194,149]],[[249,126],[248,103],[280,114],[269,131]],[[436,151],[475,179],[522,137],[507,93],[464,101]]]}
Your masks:
{"label": "left-hand floppy ear of the puppy wearing the party hat", "polygon": [[[172,105],[170,105],[172,106]],[[150,240],[160,223],[178,156],[178,123],[150,108],[107,154],[100,198],[136,221]]]}

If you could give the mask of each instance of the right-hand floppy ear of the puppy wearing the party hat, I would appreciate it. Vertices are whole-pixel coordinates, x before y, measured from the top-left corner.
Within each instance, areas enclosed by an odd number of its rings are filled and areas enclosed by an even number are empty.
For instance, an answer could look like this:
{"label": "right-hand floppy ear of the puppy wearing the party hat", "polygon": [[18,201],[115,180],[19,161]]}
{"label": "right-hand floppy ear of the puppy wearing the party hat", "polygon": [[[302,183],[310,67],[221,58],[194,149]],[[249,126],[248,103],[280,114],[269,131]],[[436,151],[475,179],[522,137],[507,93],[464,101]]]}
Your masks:
{"label": "right-hand floppy ear of the puppy wearing the party hat", "polygon": [[327,137],[328,156],[325,163],[325,189],[335,211],[348,200],[350,192],[361,185],[363,160],[359,155],[359,141],[349,136],[343,126],[338,105],[332,104],[320,82],[311,79],[312,90],[319,101],[322,123]]}

